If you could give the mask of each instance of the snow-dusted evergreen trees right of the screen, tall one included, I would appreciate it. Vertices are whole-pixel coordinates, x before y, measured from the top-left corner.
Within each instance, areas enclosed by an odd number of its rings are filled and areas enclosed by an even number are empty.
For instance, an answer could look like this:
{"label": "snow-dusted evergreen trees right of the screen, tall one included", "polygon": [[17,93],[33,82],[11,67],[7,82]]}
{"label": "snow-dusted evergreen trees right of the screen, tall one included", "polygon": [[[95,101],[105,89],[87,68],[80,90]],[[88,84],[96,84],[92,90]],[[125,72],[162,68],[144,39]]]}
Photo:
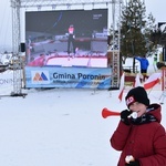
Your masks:
{"label": "snow-dusted evergreen trees right of the screen, tall one included", "polygon": [[[152,13],[146,15],[144,1],[131,0],[124,4],[121,15],[121,58],[151,56],[157,48],[166,48],[166,29],[160,27],[166,22],[155,23]],[[118,32],[117,32],[118,33]],[[133,69],[135,59],[133,61]]]}

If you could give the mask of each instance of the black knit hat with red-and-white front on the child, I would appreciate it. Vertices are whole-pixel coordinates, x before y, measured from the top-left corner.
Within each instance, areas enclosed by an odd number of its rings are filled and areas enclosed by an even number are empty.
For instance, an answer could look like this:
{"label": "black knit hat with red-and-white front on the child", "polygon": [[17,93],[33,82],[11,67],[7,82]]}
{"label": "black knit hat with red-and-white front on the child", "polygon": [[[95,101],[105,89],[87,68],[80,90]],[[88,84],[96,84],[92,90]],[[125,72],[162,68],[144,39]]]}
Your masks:
{"label": "black knit hat with red-and-white front on the child", "polygon": [[129,108],[129,105],[135,103],[135,102],[143,103],[146,106],[149,105],[149,100],[147,97],[147,93],[146,93],[145,89],[142,86],[137,86],[137,87],[132,89],[127,93],[125,101],[126,101],[126,105],[128,108]]}

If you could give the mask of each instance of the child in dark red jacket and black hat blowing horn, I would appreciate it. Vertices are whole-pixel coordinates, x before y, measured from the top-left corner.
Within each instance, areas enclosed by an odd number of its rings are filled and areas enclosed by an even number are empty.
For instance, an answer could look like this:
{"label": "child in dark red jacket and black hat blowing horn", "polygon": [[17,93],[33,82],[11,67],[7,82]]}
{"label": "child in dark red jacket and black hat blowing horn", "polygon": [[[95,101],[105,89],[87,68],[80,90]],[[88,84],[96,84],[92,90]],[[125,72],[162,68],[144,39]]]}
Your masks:
{"label": "child in dark red jacket and black hat blowing horn", "polygon": [[117,166],[166,166],[160,105],[151,104],[142,86],[132,89],[125,101],[128,110],[121,112],[121,121],[110,139],[114,149],[122,151]]}

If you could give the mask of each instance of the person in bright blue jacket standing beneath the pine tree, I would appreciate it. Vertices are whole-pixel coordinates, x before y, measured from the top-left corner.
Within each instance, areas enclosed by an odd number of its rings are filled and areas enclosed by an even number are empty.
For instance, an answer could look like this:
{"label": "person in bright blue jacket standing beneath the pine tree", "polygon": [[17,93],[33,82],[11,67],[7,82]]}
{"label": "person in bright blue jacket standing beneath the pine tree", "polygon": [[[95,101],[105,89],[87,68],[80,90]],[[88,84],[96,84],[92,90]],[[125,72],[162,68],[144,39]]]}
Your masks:
{"label": "person in bright blue jacket standing beneath the pine tree", "polygon": [[138,60],[141,63],[141,73],[143,75],[143,81],[145,81],[145,79],[147,79],[147,69],[148,69],[148,60],[146,59],[146,56],[135,56],[135,60]]}

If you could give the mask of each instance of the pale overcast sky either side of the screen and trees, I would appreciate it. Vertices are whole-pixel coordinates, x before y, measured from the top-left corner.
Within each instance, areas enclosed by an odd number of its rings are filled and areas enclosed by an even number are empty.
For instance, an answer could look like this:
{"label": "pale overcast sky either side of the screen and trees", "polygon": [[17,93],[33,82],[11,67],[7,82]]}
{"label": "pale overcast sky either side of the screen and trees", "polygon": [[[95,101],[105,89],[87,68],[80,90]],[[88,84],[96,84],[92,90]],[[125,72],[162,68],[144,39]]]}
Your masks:
{"label": "pale overcast sky either side of the screen and trees", "polygon": [[[12,45],[11,0],[1,0],[0,6],[0,51]],[[127,0],[124,0],[124,2]],[[166,0],[145,0],[147,14],[153,13],[156,22],[166,21]]]}

